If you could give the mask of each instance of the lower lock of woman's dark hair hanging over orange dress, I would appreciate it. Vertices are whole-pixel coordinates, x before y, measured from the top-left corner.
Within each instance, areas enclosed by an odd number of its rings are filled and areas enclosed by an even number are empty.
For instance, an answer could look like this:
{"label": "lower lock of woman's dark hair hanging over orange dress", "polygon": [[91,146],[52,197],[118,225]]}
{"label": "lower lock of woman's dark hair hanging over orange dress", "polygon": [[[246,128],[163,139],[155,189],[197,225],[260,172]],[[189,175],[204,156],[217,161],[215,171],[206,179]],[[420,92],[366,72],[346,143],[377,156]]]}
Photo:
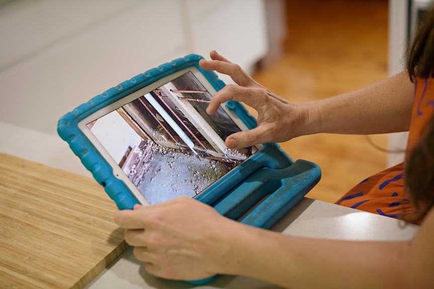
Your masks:
{"label": "lower lock of woman's dark hair hanging over orange dress", "polygon": [[416,214],[406,221],[418,223],[434,205],[434,115],[405,161],[404,180]]}

